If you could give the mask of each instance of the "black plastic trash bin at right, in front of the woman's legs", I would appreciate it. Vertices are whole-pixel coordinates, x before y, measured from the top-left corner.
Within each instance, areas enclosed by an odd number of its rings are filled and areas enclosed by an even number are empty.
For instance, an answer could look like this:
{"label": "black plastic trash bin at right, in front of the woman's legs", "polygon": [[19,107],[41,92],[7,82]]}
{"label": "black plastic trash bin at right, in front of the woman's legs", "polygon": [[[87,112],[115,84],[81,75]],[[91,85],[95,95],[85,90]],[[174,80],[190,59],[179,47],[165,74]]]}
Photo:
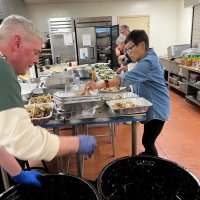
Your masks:
{"label": "black plastic trash bin at right, in front of the woman's legs", "polygon": [[97,188],[107,200],[198,200],[200,182],[188,170],[162,158],[123,157],[99,174]]}

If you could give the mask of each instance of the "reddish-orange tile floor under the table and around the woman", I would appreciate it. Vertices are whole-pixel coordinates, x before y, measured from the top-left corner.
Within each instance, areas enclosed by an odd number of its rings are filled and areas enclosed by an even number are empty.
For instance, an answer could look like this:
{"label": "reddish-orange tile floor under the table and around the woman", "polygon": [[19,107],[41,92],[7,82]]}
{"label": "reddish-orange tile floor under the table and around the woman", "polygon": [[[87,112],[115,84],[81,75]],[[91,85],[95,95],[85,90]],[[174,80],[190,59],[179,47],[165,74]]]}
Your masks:
{"label": "reddish-orange tile floor under the table and around the woman", "polygon": [[[159,156],[175,161],[200,178],[200,107],[187,102],[177,91],[170,91],[171,117],[157,139]],[[137,124],[137,152],[143,151],[143,125]],[[106,133],[106,128],[91,128],[89,134]],[[95,180],[98,174],[112,160],[131,155],[131,125],[117,124],[116,156],[112,155],[110,139],[97,137],[97,150],[92,158],[85,159],[84,177]],[[69,133],[69,131],[68,131]],[[66,134],[66,131],[62,132]],[[57,172],[57,160],[47,163],[51,173]],[[66,170],[66,157],[63,157]],[[71,156],[69,173],[76,174],[75,157]]]}

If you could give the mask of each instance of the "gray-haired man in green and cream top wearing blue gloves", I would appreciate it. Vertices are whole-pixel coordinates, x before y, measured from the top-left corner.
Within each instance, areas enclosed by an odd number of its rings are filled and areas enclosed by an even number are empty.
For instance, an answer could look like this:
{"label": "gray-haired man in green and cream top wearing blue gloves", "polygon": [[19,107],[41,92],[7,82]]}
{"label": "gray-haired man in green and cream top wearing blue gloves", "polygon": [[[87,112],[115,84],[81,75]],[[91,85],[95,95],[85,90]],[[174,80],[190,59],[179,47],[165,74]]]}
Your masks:
{"label": "gray-haired man in green and cream top wearing blue gloves", "polygon": [[[0,25],[0,148],[21,160],[50,161],[55,156],[71,153],[90,156],[96,148],[93,136],[51,134],[34,126],[24,108],[17,75],[26,74],[38,63],[42,44],[41,33],[22,16],[8,16]],[[4,162],[5,159],[1,164]],[[5,170],[9,171],[10,164],[6,166]],[[18,180],[24,183],[22,179]]]}

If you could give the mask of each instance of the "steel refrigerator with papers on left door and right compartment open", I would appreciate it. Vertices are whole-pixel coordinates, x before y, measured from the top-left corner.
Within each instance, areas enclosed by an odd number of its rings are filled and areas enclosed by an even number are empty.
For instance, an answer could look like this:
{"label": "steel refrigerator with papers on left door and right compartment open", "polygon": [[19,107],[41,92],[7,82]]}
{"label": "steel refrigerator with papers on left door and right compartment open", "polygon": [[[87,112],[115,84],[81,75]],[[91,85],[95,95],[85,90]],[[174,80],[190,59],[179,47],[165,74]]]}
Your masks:
{"label": "steel refrigerator with papers on left door and right compartment open", "polygon": [[75,20],[78,63],[110,62],[112,53],[112,17],[88,17]]}

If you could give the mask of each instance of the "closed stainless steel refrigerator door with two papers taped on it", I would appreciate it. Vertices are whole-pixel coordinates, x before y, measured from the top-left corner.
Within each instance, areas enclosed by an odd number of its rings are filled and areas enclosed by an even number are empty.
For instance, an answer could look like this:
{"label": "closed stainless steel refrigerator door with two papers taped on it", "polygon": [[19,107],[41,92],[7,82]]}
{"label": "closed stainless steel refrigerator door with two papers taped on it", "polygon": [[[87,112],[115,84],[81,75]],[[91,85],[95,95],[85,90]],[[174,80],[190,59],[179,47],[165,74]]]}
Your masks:
{"label": "closed stainless steel refrigerator door with two papers taped on it", "polygon": [[96,30],[94,27],[76,28],[78,64],[97,62]]}

